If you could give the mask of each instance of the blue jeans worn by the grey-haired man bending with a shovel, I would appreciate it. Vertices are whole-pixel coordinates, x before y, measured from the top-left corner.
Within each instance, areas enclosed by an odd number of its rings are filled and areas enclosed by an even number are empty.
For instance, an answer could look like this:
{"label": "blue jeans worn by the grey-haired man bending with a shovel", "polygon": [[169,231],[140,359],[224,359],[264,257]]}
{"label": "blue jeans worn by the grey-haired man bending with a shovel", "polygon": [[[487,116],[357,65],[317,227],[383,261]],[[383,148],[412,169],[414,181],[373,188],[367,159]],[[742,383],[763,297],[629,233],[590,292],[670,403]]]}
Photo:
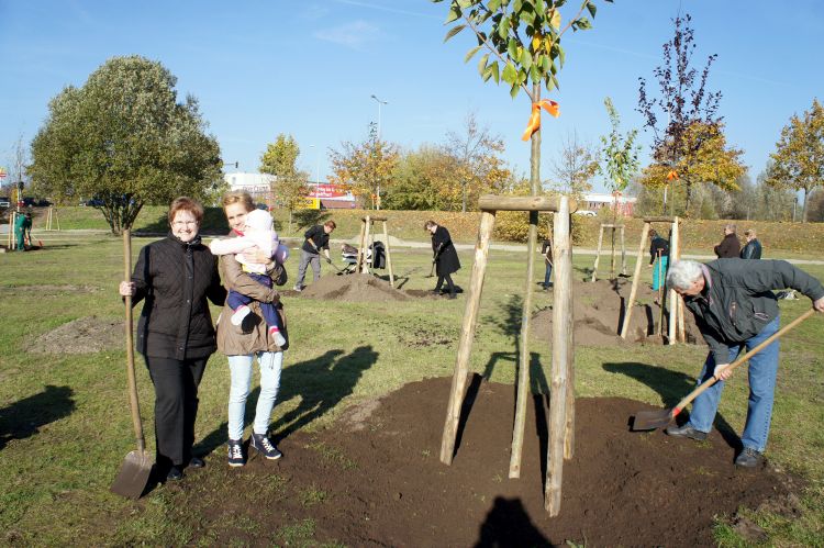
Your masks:
{"label": "blue jeans worn by the grey-haired man bending with a shovel", "polygon": [[[768,323],[761,332],[753,338],[744,342],[747,350],[761,344],[778,331],[779,317]],[[730,347],[730,364],[735,360],[741,346]],[[747,422],[742,434],[742,444],[758,452],[764,452],[767,447],[767,436],[770,432],[770,420],[772,417],[772,400],[776,393],[776,374],[778,373],[779,339],[772,342],[767,348],[749,359],[749,400],[747,404]],[[715,360],[712,354],[706,358],[704,368],[701,370],[698,383],[702,383],[712,377]],[[692,402],[690,425],[697,430],[710,432],[715,413],[719,410],[719,401],[724,390],[724,381],[719,381],[710,387],[704,393]]]}

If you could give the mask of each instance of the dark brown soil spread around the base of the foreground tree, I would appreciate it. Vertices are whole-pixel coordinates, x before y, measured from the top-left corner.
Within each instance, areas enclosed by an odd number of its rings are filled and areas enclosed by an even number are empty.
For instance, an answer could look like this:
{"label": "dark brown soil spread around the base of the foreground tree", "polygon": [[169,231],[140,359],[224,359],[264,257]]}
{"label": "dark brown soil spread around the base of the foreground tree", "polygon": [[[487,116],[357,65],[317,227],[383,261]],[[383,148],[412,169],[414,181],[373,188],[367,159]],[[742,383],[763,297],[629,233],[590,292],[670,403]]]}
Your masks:
{"label": "dark brown soil spread around the base of the foreground tree", "polygon": [[445,466],[438,455],[449,387],[448,378],[414,382],[350,409],[326,430],[287,435],[277,462],[255,457],[229,469],[221,448],[208,468],[164,489],[180,490],[176,507],[198,524],[191,544],[294,544],[296,529],[311,525],[304,543],[691,547],[713,544],[714,516],[768,500],[786,508],[800,488],[770,468],[736,470],[735,450],[717,433],[700,444],[631,433],[631,414],[649,406],[582,399],[561,512],[550,518],[546,401],[528,405],[522,473],[510,480],[513,387],[472,379],[468,420]]}

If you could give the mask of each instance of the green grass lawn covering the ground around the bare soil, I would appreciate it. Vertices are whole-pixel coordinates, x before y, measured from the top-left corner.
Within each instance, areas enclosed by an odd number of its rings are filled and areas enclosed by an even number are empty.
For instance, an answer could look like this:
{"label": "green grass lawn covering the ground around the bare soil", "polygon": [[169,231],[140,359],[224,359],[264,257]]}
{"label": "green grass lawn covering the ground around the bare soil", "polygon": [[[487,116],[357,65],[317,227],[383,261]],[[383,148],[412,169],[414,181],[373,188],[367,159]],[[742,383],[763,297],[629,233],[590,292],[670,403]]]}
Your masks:
{"label": "green grass lawn covering the ground around the bare soil", "polygon": [[[148,242],[133,242],[135,257]],[[426,249],[394,250],[396,272],[412,271],[403,289],[431,289],[434,280],[424,278],[430,256]],[[492,251],[490,257],[471,369],[492,381],[513,383],[525,266],[516,253]],[[456,282],[468,288],[471,251],[461,251],[460,259],[464,268]],[[592,259],[586,255],[576,259],[577,277],[583,277]],[[43,354],[36,344],[40,336],[76,318],[121,318],[123,306],[116,286],[123,276],[122,265],[122,243],[105,235],[64,238],[41,251],[0,255],[1,544],[181,545],[198,526],[177,521],[181,515],[175,510],[179,495],[168,489],[156,489],[136,503],[109,492],[124,456],[134,447],[125,392],[125,350]],[[633,266],[630,257],[630,271]],[[294,256],[288,268],[293,277]],[[824,266],[803,268],[824,279]],[[543,278],[541,265],[536,271]],[[548,300],[548,294],[538,292],[536,307],[546,306]],[[276,429],[318,428],[350,403],[422,378],[452,374],[464,299],[380,304],[291,298],[285,304],[292,348],[286,355],[274,416]],[[782,323],[809,305],[806,299],[782,301]],[[213,313],[216,317],[218,310]],[[323,336],[314,336],[318,333]],[[769,545],[824,543],[823,333],[824,318],[815,316],[782,344],[768,457],[775,465],[801,474],[808,487],[801,497],[802,514],[797,518],[748,511],[747,515],[767,530]],[[435,344],[417,346],[414,351],[409,344],[398,344],[423,338]],[[534,367],[544,368],[548,376],[550,348],[537,342],[531,346],[538,357]],[[684,395],[684,385],[668,388],[666,379],[673,374],[692,378],[704,354],[703,347],[693,346],[579,346],[576,393],[671,404]],[[349,356],[349,367],[329,369],[332,355]],[[650,364],[659,366],[660,373],[649,373],[648,368],[638,366]],[[153,451],[153,390],[140,356],[137,366],[144,428]],[[296,387],[301,387],[300,391]],[[225,357],[215,355],[201,384],[197,424],[200,448],[214,450],[211,466],[224,466],[227,393]],[[316,394],[315,405],[308,407],[301,393]],[[446,403],[433,405],[445,410]],[[741,432],[746,413],[746,382],[741,372],[730,383],[721,412]],[[323,503],[318,493],[305,496],[312,503]],[[311,539],[311,530],[292,534],[302,544]],[[744,544],[727,526],[725,516],[719,516],[716,538],[723,545]]]}

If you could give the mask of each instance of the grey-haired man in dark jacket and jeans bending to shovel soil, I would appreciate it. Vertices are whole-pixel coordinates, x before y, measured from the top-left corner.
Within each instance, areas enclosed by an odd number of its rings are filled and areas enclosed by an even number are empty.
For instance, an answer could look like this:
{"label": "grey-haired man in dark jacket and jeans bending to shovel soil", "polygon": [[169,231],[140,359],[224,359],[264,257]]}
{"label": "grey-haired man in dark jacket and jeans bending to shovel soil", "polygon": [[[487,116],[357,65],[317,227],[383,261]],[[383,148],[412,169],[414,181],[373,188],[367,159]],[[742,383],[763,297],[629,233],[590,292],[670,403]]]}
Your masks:
{"label": "grey-haired man in dark jacket and jeans bending to shovel soil", "polygon": [[[679,260],[670,266],[667,283],[683,297],[710,346],[698,383],[719,379],[695,398],[690,421],[680,427],[669,426],[667,434],[702,440],[712,428],[724,381],[733,372],[727,367],[738,349],[755,348],[778,331],[778,301],[772,290],[792,288],[812,299],[816,311],[824,312],[824,287],[784,260],[739,259],[706,265]],[[776,339],[749,359],[749,403],[737,466],[753,468],[762,460],[772,416],[778,351]]]}

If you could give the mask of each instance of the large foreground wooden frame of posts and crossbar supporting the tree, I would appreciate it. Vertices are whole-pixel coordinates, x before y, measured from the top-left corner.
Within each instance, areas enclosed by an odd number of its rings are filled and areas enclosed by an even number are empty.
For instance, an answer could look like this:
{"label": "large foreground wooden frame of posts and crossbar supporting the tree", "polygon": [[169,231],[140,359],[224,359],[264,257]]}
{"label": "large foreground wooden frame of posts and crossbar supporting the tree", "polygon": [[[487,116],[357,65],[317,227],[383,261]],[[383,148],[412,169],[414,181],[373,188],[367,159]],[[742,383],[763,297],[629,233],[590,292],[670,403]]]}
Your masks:
{"label": "large foreground wooden frame of posts and crossbar supporting the tree", "polygon": [[[550,516],[560,512],[560,488],[564,459],[574,454],[575,391],[574,380],[574,334],[572,334],[572,239],[570,233],[570,211],[575,202],[567,197],[494,197],[483,195],[478,201],[481,210],[478,239],[475,245],[475,262],[466,301],[466,311],[460,329],[458,353],[453,373],[449,403],[446,410],[444,433],[441,439],[441,461],[450,465],[455,455],[455,441],[460,421],[460,410],[467,385],[469,356],[478,322],[478,309],[489,257],[489,243],[498,211],[528,211],[530,228],[537,226],[538,211],[555,212],[553,231],[554,258],[554,315],[553,315],[553,372],[549,410],[549,448],[547,450],[547,477],[545,482],[545,506]],[[526,401],[530,389],[528,317],[532,313],[532,275],[534,273],[534,249],[527,249],[526,297],[521,333],[521,361],[519,371],[517,401],[515,403],[515,426],[512,436],[510,478],[517,478],[521,468],[523,430]]]}

